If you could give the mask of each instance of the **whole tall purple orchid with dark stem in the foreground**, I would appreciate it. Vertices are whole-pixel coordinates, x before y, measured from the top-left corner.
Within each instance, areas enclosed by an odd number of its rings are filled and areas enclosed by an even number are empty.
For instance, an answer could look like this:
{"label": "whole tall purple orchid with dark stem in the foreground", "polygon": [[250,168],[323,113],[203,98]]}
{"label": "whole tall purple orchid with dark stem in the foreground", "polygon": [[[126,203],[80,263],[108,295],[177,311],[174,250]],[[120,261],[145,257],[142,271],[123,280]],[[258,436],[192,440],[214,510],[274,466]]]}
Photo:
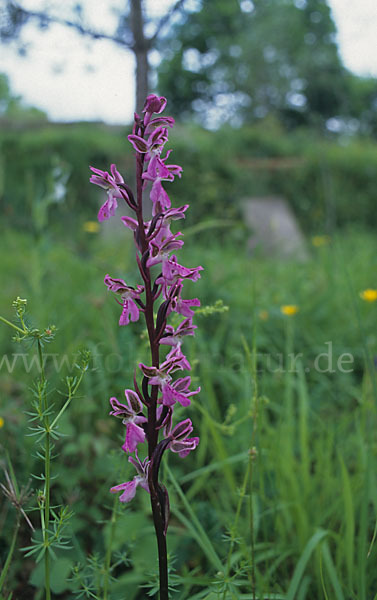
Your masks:
{"label": "whole tall purple orchid with dark stem in the foreground", "polygon": [[[185,281],[196,281],[202,270],[200,266],[182,266],[173,254],[183,246],[183,241],[180,232],[171,232],[171,222],[183,219],[188,205],[172,208],[163,187],[163,182],[172,182],[182,174],[182,167],[169,163],[171,150],[165,151],[168,130],[174,125],[172,117],[161,116],[165,106],[164,97],[150,95],[145,101],[143,115],[135,114],[128,140],[136,152],[136,194],[116,165],[111,165],[110,173],[90,167],[93,172],[91,183],[107,191],[106,201],[98,213],[99,221],[115,215],[118,200],[123,200],[133,215],[123,216],[121,220],[134,234],[140,284],[131,286],[110,275],[105,276],[104,282],[121,306],[120,326],[137,321],[143,315],[150,364],[140,363],[135,368],[133,389],[125,390],[123,402],[110,398],[110,414],[120,418],[126,430],[122,450],[130,455],[128,460],[136,469],[131,481],[115,485],[110,491],[121,492],[121,502],[132,500],[137,487],[150,494],[158,547],[160,600],[169,597],[166,547],[169,496],[159,481],[161,459],[166,450],[184,458],[199,443],[198,437],[190,437],[193,426],[189,418],[175,423],[174,408],[177,403],[189,406],[191,396],[200,388],[190,391],[190,376],[175,378],[173,374],[191,369],[182,351],[182,342],[185,336],[194,335],[193,307],[200,303],[197,298],[184,299],[182,291]],[[145,217],[146,191],[152,210],[149,220]],[[167,322],[172,313],[183,318],[176,328]],[[168,350],[164,356],[161,355],[163,349]],[[140,447],[144,444],[147,449],[143,452]]]}

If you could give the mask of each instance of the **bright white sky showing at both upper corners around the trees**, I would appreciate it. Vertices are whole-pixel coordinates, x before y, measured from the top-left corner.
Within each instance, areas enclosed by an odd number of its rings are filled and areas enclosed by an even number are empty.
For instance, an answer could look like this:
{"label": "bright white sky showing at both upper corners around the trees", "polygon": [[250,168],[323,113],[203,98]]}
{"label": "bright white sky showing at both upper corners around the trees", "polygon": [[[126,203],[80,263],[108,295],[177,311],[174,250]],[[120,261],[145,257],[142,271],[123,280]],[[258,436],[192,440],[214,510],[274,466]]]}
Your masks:
{"label": "bright white sky showing at both upper corners around the trees", "polygon": [[[105,8],[107,1],[86,1],[94,9],[97,28],[111,20]],[[155,16],[163,14],[172,1],[148,0],[148,9]],[[345,66],[360,75],[377,77],[377,0],[328,1]],[[36,2],[26,0],[24,6],[35,7]],[[26,103],[58,121],[132,120],[135,89],[131,53],[111,42],[90,42],[58,25],[46,32],[27,25],[23,39],[30,43],[26,57],[19,56],[14,45],[0,46],[0,72],[8,75],[12,92]]]}

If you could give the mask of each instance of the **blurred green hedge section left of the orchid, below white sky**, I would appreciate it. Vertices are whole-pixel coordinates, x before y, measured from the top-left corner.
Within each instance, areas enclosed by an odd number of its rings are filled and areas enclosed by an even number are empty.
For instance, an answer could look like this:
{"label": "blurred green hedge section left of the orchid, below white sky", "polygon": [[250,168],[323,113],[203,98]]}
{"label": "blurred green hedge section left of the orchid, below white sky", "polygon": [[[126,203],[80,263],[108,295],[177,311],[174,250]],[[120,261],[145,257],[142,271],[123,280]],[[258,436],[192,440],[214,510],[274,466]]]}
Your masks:
{"label": "blurred green hedge section left of the orchid, below white sky", "polygon": [[88,165],[107,169],[115,160],[124,168],[124,132],[85,123],[17,128],[13,121],[0,135],[4,214],[36,234],[46,228],[47,211],[64,218],[63,228],[74,227],[78,215],[95,214],[99,195],[88,185]]}

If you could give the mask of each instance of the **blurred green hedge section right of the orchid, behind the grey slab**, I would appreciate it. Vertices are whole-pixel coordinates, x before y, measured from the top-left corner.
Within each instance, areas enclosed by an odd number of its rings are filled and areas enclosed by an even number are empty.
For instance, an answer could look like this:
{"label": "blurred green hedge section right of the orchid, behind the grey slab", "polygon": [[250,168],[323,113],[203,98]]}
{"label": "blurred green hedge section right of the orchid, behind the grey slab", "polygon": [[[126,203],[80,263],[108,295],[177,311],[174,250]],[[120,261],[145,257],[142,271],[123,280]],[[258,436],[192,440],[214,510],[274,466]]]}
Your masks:
{"label": "blurred green hedge section right of the orchid, behind the grey slab", "polygon": [[[185,127],[173,138],[186,180],[198,182],[176,182],[174,195],[190,203],[195,222],[240,220],[244,199],[278,195],[289,201],[307,232],[331,233],[355,223],[376,226],[377,146],[371,141],[339,144],[308,131],[286,134],[273,119],[239,130]],[[226,237],[227,230],[221,235]]]}

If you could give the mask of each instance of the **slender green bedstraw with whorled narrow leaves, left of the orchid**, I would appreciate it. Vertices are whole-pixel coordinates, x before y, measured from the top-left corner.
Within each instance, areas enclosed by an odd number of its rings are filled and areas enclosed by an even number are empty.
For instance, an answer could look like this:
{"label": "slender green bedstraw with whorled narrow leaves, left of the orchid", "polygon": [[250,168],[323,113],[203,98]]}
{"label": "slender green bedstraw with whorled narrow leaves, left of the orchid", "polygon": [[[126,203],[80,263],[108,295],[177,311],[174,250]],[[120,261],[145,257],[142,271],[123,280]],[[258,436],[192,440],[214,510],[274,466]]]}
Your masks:
{"label": "slender green bedstraw with whorled narrow leaves, left of the orchid", "polygon": [[[13,341],[24,342],[27,345],[36,346],[36,354],[38,358],[37,366],[39,377],[36,379],[31,393],[33,399],[31,401],[31,411],[27,411],[30,423],[29,436],[33,437],[36,444],[36,456],[43,461],[43,471],[40,475],[32,474],[34,480],[39,481],[41,488],[36,492],[37,506],[33,509],[39,513],[40,531],[41,534],[31,538],[30,546],[22,548],[25,552],[25,557],[33,557],[38,563],[44,561],[44,587],[45,598],[51,598],[51,560],[56,559],[56,550],[67,550],[70,548],[69,537],[67,536],[67,528],[73,513],[68,506],[57,506],[51,502],[51,487],[55,476],[52,473],[52,459],[57,457],[55,444],[63,436],[59,430],[60,419],[69,407],[72,400],[77,397],[78,388],[81,384],[84,374],[88,370],[90,353],[87,350],[80,352],[79,360],[75,365],[78,375],[67,376],[65,379],[66,391],[63,393],[65,401],[59,410],[51,402],[51,392],[49,389],[48,379],[46,374],[46,356],[44,347],[50,343],[56,332],[54,325],[49,325],[44,329],[31,327],[26,319],[27,300],[17,297],[12,304],[16,312],[18,325],[8,321],[0,316],[0,322],[11,327],[15,335]],[[23,488],[21,492],[18,490],[16,478],[13,472],[10,457],[7,455],[7,465],[11,472],[11,477],[5,472],[7,487],[1,485],[5,496],[10,500],[13,506],[17,509],[18,518],[15,527],[15,533],[8,557],[0,576],[0,594],[6,580],[7,572],[12,559],[16,536],[19,529],[19,516],[22,514],[26,519],[30,528],[34,531],[34,526],[26,515],[22,504],[28,496],[28,488]]]}

